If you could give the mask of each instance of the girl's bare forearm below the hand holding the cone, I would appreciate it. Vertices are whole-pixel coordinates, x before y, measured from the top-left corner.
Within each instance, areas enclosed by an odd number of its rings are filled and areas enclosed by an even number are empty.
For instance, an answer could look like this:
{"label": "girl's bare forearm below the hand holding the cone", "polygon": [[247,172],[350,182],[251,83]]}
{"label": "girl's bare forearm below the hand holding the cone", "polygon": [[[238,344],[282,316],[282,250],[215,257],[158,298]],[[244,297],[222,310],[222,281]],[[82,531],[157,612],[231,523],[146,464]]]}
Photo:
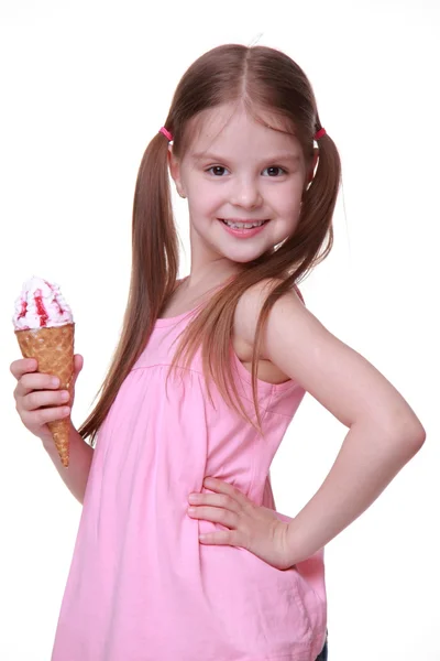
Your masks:
{"label": "girl's bare forearm below the hand holding the cone", "polygon": [[65,468],[59,460],[58,452],[53,440],[42,440],[42,443],[64,484],[82,505],[91,459],[95,452],[94,448],[82,440],[76,429],[72,425],[69,436],[69,465],[68,468]]}

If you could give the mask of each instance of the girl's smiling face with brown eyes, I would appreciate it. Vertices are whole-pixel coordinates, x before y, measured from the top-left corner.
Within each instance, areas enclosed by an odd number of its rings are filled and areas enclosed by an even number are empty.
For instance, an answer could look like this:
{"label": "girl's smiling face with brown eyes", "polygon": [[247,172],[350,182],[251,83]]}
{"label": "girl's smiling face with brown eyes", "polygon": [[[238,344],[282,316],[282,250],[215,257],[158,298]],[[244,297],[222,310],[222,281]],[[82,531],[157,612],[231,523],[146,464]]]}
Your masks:
{"label": "girl's smiling face with brown eyes", "polygon": [[244,108],[207,111],[169,165],[188,198],[193,264],[245,263],[295,231],[307,174],[300,144]]}

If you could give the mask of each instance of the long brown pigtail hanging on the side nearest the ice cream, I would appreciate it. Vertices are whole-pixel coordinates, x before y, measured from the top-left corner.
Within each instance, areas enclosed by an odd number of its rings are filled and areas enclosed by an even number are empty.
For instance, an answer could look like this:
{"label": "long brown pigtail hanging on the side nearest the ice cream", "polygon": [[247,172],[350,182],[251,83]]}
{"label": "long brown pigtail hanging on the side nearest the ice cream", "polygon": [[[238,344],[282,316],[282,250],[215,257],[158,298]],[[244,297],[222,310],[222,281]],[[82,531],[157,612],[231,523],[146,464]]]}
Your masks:
{"label": "long brown pigtail hanging on the side nearest the ice cream", "polygon": [[143,155],[135,186],[132,272],[121,338],[98,391],[95,410],[79,429],[91,443],[128,373],[148,342],[178,271],[178,242],[168,177],[168,141],[157,133]]}

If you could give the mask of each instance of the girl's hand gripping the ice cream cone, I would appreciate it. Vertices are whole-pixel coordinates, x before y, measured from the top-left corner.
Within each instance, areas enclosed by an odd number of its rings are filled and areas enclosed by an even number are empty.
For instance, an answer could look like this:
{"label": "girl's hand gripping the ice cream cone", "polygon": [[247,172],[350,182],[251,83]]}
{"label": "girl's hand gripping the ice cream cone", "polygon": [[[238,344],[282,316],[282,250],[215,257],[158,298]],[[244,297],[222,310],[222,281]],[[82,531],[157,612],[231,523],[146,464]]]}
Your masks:
{"label": "girl's hand gripping the ice cream cone", "polygon": [[82,356],[77,354],[74,357],[72,400],[68,401],[68,392],[58,390],[58,379],[36,371],[38,365],[34,358],[22,358],[11,364],[11,372],[18,381],[13,393],[16,411],[24,426],[43,442],[52,442],[48,422],[70,415],[75,382],[82,365]]}

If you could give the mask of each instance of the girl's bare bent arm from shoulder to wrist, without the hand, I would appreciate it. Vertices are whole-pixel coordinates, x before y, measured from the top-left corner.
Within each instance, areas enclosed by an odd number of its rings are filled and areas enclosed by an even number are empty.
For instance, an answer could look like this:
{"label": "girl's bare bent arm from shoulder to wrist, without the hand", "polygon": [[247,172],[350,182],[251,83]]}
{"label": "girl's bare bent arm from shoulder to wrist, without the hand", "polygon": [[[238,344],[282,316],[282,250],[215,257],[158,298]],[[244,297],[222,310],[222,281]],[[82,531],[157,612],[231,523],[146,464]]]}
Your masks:
{"label": "girl's bare bent arm from shoulder to wrist, without the hand", "polygon": [[[240,301],[235,332],[249,344],[267,290]],[[425,430],[365,358],[329,333],[293,292],[276,302],[261,358],[271,360],[349,427],[322,486],[289,523],[295,562],[321,549],[367,509],[420,449]]]}

